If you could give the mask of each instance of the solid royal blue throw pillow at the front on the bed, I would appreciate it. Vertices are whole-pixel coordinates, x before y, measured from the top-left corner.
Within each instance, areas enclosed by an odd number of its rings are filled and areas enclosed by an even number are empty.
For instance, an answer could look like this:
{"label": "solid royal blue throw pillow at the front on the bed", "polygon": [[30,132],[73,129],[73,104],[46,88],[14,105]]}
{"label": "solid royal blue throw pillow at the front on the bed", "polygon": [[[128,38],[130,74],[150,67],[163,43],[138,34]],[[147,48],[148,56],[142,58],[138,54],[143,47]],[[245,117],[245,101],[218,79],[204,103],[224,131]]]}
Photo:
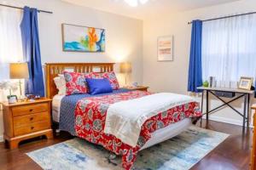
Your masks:
{"label": "solid royal blue throw pillow at the front on the bed", "polygon": [[85,78],[90,94],[107,94],[112,93],[113,89],[107,78],[96,79],[96,78]]}

